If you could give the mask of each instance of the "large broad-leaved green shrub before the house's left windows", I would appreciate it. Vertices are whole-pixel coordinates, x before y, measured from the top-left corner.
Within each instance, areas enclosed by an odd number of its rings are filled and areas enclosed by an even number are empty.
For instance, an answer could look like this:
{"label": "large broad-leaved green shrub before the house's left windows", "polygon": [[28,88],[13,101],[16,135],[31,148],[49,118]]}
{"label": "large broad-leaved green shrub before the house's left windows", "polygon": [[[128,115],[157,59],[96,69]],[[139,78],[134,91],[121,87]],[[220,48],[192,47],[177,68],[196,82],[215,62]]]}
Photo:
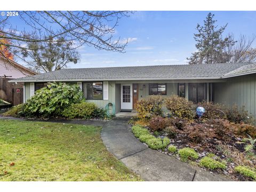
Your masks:
{"label": "large broad-leaved green shrub before the house's left windows", "polygon": [[83,99],[83,92],[77,85],[49,83],[27,100],[23,115],[26,117],[61,116],[64,109],[73,103],[80,103]]}

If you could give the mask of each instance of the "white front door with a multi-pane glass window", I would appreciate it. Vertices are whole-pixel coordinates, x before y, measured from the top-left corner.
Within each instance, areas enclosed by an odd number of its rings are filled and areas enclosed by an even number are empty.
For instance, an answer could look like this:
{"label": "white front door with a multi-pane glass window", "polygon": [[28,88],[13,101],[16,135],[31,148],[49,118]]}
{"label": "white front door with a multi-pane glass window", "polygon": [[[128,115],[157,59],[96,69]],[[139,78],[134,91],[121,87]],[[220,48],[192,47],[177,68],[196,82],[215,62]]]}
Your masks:
{"label": "white front door with a multi-pane glass window", "polygon": [[121,84],[121,109],[132,109],[132,84]]}

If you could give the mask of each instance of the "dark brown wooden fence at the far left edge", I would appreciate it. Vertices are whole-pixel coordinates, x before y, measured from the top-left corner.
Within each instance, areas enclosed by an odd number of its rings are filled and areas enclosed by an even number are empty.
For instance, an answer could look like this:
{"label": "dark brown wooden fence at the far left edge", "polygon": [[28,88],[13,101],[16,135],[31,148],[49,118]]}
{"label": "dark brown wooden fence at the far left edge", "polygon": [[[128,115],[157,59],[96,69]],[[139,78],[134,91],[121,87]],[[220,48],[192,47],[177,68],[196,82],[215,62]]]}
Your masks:
{"label": "dark brown wooden fence at the far left edge", "polygon": [[0,99],[12,103],[13,106],[23,103],[23,85],[9,83],[11,78],[0,78]]}

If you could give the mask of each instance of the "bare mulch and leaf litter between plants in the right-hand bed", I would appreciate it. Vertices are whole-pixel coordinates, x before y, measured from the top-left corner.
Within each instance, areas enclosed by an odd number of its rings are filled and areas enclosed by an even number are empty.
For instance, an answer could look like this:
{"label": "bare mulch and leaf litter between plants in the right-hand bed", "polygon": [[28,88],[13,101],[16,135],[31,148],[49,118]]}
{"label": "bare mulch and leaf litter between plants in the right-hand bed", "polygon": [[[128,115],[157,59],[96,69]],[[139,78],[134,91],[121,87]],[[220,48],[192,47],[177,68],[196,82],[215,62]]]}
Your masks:
{"label": "bare mulch and leaf litter between plants in the right-hand bed", "polygon": [[[202,122],[196,122],[199,124],[203,124],[205,125],[205,128],[208,129],[209,124],[206,123],[202,123]],[[193,123],[188,123],[189,125]],[[168,137],[166,132],[164,130],[162,131],[151,131],[151,129],[149,129],[148,126],[145,126],[150,134],[154,135],[155,137]],[[191,142],[190,138],[188,137],[188,134],[186,133],[186,130],[178,130],[176,129],[177,134],[175,135],[175,137],[170,138],[170,145],[176,146],[177,149],[182,149],[185,147],[189,147],[189,148],[193,148],[195,149],[195,151],[199,154],[199,158],[196,159],[193,163],[193,166],[197,166],[199,169],[202,170],[208,170],[211,173],[215,172],[215,173],[219,173],[219,174],[223,174],[226,175],[226,177],[229,177],[233,180],[238,180],[238,181],[253,181],[252,178],[249,177],[244,177],[242,174],[237,173],[234,168],[235,166],[238,166],[239,164],[237,163],[237,159],[231,158],[230,156],[232,154],[232,151],[227,150],[226,148],[230,148],[232,150],[235,151],[235,153],[237,153],[238,156],[243,156],[241,157],[242,159],[246,159],[246,153],[245,153],[245,149],[244,149],[244,144],[238,144],[237,142],[242,141],[242,137],[237,137],[234,134],[225,134],[223,135],[224,139],[218,139],[218,138],[204,138],[201,142]],[[221,138],[221,137],[220,137]],[[225,138],[227,138],[225,140]],[[146,143],[145,143],[146,145]],[[169,146],[170,146],[169,145]],[[221,149],[221,147],[225,148],[225,149]],[[167,150],[167,147],[164,150],[158,150],[161,153],[164,153],[166,155],[170,155],[174,158],[180,159],[180,156],[177,153],[169,153],[169,151]],[[246,165],[251,165],[256,167],[256,153],[255,151],[252,152],[254,157],[250,160],[250,162],[248,163],[248,161],[246,162]],[[202,157],[205,157],[209,154],[214,154],[215,155],[215,159],[218,161],[225,161],[226,165],[227,165],[227,169],[222,170],[222,169],[215,169],[215,170],[210,170],[210,169],[206,169],[204,167],[199,166],[197,163],[199,163],[200,159]],[[195,163],[196,162],[196,163]]]}

